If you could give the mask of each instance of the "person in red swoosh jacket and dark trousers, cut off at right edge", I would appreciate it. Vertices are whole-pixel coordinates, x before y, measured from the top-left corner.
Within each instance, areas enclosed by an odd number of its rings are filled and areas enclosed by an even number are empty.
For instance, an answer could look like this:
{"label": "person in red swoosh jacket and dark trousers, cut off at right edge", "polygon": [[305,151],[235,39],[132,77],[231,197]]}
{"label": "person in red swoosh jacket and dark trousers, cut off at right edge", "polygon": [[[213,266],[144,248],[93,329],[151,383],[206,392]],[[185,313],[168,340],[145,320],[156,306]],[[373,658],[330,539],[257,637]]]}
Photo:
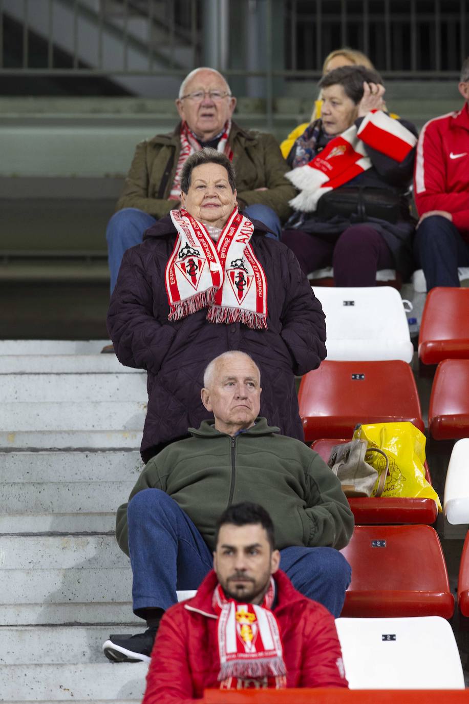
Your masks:
{"label": "person in red swoosh jacket and dark trousers, cut off at right edge", "polygon": [[428,291],[458,287],[458,267],[469,266],[469,57],[458,89],[463,108],[427,122],[418,139],[414,248]]}

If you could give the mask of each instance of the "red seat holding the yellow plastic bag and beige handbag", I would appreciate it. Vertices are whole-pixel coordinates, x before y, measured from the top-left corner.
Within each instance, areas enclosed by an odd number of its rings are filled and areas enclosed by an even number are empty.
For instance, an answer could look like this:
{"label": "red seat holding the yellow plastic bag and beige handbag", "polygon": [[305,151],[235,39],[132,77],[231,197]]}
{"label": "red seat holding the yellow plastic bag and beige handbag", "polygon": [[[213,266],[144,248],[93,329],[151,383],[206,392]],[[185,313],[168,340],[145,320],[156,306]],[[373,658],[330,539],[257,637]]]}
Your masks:
{"label": "red seat holding the yellow plastic bag and beige handbag", "polygon": [[[334,445],[348,440],[334,440],[322,438],[315,440],[311,448],[316,451],[325,462],[330,457]],[[425,462],[425,479],[430,484],[430,472]],[[430,524],[437,520],[438,509],[432,498],[349,498],[350,508],[355,517],[356,524],[387,524],[387,523],[418,523]]]}

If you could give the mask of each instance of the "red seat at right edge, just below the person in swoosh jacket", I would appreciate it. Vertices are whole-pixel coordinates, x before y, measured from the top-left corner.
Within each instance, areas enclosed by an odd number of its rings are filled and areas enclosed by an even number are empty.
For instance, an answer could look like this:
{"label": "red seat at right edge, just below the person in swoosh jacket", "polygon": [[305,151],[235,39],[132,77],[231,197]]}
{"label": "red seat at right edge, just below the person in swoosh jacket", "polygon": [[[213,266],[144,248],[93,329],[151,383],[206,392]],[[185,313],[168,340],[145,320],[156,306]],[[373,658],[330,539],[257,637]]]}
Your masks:
{"label": "red seat at right edge, just below the person in swoosh jacket", "polygon": [[430,291],[418,335],[418,356],[424,364],[469,358],[469,289]]}

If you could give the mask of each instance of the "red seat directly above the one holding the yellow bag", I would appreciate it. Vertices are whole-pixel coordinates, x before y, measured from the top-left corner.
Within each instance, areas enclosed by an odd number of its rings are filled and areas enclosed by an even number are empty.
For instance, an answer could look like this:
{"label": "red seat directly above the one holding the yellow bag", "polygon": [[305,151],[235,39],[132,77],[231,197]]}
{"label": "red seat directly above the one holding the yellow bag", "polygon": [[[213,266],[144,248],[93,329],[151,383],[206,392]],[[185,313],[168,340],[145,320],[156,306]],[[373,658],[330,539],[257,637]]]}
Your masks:
{"label": "red seat directly above the one holding the yellow bag", "polygon": [[352,437],[357,423],[409,420],[425,429],[411,367],[401,360],[326,360],[302,377],[298,401],[307,442]]}

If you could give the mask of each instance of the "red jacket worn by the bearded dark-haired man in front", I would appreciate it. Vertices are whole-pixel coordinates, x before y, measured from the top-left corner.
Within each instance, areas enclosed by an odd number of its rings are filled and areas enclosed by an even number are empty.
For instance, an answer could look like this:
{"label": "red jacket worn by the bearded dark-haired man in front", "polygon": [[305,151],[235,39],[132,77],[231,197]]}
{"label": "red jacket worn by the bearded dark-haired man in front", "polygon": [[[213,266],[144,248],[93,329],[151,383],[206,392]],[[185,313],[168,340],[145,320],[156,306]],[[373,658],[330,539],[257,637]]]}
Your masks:
{"label": "red jacket worn by the bearded dark-haired man in front", "polygon": [[[278,621],[288,687],[347,687],[334,617],[294,589],[280,570]],[[207,574],[192,599],[175,604],[161,620],[142,704],[191,704],[204,689],[218,688],[220,661],[212,594],[217,575]]]}

